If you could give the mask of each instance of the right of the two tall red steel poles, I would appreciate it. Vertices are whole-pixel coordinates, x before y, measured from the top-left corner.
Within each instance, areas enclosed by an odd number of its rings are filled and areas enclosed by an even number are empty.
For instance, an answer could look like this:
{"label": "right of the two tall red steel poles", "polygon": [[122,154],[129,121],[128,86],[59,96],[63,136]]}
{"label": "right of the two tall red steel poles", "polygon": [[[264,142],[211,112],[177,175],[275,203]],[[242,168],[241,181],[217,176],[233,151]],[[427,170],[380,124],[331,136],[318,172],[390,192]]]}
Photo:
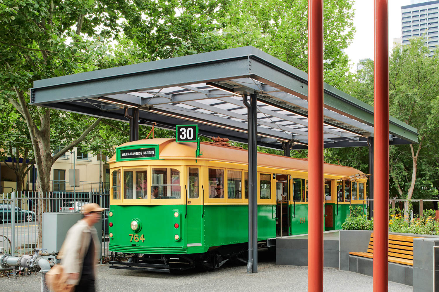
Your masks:
{"label": "right of the two tall red steel poles", "polygon": [[388,0],[374,0],[374,292],[387,292],[389,269]]}

